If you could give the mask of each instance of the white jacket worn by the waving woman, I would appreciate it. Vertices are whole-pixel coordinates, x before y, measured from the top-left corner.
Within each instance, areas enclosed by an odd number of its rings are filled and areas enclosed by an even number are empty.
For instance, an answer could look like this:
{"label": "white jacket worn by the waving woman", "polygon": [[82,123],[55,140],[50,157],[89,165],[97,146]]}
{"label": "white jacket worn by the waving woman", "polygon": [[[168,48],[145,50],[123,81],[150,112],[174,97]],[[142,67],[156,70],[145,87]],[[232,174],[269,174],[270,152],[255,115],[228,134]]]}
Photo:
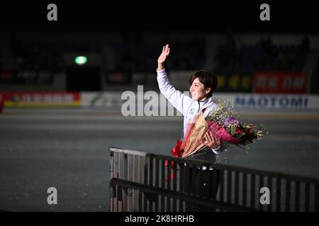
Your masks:
{"label": "white jacket worn by the waving woman", "polygon": [[[208,117],[209,112],[212,109],[218,108],[215,102],[213,102],[213,97],[209,97],[205,101],[196,101],[191,99],[188,95],[184,95],[181,91],[176,90],[173,85],[169,83],[165,69],[159,71],[157,70],[157,83],[160,92],[164,97],[169,100],[169,102],[184,116],[184,135],[186,131],[186,125],[189,119],[193,118],[197,112],[201,109],[206,108],[203,112],[204,117]],[[222,152],[223,148],[217,148],[213,150],[213,153],[218,154]]]}

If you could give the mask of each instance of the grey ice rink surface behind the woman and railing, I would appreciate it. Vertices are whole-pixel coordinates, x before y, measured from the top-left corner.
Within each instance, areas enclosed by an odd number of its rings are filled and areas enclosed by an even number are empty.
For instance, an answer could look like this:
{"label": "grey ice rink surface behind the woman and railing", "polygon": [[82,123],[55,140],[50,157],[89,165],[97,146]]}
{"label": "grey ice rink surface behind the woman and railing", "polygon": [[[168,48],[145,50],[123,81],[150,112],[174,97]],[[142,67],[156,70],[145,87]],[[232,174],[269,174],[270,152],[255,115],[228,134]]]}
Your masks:
{"label": "grey ice rink surface behind the woman and railing", "polygon": [[[270,132],[228,165],[319,177],[318,114],[243,114]],[[0,209],[107,211],[108,147],[170,155],[181,117],[121,117],[112,112],[0,114]],[[57,189],[57,205],[47,189]]]}

